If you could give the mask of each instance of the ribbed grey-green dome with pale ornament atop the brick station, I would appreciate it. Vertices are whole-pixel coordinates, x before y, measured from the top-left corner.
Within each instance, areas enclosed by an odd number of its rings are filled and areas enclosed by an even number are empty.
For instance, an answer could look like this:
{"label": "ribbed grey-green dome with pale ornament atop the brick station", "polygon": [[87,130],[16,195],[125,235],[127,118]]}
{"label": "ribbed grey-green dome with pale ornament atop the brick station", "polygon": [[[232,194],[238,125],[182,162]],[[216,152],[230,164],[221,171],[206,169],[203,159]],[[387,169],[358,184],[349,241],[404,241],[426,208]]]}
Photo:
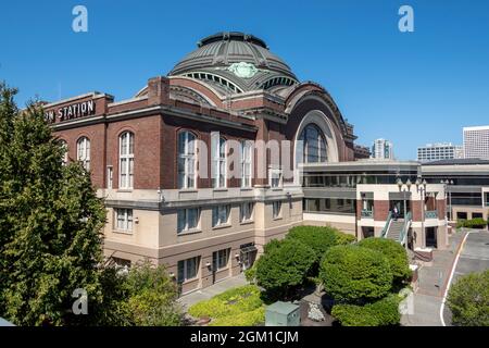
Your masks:
{"label": "ribbed grey-green dome with pale ornament atop the brick station", "polygon": [[290,67],[262,39],[236,32],[203,38],[168,75],[205,80],[224,94],[279,89],[298,83]]}

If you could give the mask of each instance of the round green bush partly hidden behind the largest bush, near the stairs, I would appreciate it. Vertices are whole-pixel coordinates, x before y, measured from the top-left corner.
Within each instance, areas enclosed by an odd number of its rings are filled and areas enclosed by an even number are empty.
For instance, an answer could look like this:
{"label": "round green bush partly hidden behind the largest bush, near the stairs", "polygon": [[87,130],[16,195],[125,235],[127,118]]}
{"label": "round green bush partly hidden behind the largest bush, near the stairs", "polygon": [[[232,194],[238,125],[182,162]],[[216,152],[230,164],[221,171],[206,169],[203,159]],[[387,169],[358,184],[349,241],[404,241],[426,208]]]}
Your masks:
{"label": "round green bush partly hidden behind the largest bush, near the stairs", "polygon": [[379,251],[387,258],[394,283],[402,284],[411,277],[408,252],[399,243],[387,238],[366,238],[359,246]]}

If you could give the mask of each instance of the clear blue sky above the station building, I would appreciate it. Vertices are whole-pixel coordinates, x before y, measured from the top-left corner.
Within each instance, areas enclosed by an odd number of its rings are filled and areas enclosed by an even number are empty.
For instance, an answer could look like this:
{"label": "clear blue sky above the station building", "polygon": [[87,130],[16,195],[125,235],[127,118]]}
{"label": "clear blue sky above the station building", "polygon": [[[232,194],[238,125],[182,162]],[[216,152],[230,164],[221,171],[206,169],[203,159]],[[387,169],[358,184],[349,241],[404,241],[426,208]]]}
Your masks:
{"label": "clear blue sky above the station building", "polygon": [[[76,4],[88,33],[72,30]],[[414,33],[398,29],[402,4]],[[21,104],[92,90],[122,100],[223,30],[264,39],[331,94],[358,144],[388,138],[399,159],[489,124],[487,0],[2,1],[0,80],[20,88]]]}

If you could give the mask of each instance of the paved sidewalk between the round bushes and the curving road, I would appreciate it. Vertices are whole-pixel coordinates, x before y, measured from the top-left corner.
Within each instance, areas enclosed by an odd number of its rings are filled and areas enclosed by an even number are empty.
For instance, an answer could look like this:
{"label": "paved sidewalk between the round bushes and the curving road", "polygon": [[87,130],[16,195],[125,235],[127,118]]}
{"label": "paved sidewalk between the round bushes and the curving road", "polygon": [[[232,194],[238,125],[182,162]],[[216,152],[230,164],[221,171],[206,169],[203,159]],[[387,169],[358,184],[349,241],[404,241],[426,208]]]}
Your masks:
{"label": "paved sidewalk between the round bushes and the curving road", "polygon": [[465,233],[454,232],[447,250],[434,250],[431,265],[418,271],[418,289],[413,296],[413,310],[404,314],[401,324],[405,326],[441,326],[440,307],[450,272]]}

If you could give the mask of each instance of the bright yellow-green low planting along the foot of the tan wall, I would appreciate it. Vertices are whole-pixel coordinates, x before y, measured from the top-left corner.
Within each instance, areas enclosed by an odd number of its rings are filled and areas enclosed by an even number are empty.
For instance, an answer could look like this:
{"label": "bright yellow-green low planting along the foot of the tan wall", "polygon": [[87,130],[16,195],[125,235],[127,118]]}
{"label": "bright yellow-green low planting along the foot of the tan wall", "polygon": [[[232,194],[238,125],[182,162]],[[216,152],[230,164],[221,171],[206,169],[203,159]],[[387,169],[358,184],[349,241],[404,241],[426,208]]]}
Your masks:
{"label": "bright yellow-green low planting along the foot of the tan wall", "polygon": [[229,289],[214,296],[210,300],[191,306],[188,313],[195,318],[225,318],[250,312],[263,306],[260,289],[254,285],[246,285]]}

